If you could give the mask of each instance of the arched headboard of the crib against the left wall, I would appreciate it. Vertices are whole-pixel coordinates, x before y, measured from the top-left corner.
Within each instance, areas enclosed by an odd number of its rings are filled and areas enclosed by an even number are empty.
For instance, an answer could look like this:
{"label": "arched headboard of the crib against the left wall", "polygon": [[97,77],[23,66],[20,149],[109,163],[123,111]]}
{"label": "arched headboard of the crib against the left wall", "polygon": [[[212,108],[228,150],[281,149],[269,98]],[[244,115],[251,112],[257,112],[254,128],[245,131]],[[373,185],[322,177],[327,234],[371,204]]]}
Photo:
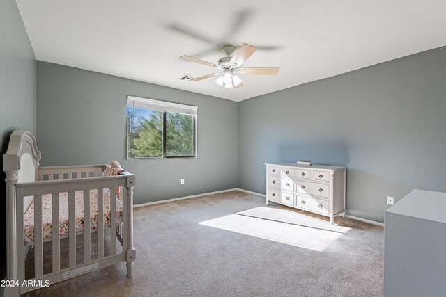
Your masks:
{"label": "arched headboard of the crib against the left wall", "polygon": [[[3,171],[7,180],[16,182],[34,182],[38,180],[40,152],[36,137],[29,131],[16,130],[9,140],[8,150],[3,154]],[[24,198],[24,211],[33,201],[32,197]]]}

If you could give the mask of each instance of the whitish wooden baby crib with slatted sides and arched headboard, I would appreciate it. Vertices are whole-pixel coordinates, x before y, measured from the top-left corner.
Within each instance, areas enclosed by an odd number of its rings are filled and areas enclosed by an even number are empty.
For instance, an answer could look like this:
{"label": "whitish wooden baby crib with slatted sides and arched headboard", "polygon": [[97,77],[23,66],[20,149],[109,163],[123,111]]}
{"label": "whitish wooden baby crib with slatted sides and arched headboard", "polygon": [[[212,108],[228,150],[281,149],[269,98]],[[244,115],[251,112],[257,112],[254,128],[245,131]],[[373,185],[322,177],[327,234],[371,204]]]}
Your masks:
{"label": "whitish wooden baby crib with slatted sides and arched headboard", "polygon": [[[118,262],[127,262],[127,275],[130,276],[136,258],[132,209],[134,175],[121,172],[116,176],[105,176],[105,165],[40,167],[39,161],[40,152],[33,134],[14,131],[3,155],[3,170],[6,172],[6,280],[11,284],[6,287],[5,295],[19,296]],[[79,218],[79,203],[83,207],[82,218]],[[51,205],[50,211],[47,204]],[[60,210],[62,204],[68,209],[66,213]],[[89,220],[85,219],[85,214],[89,214]],[[27,219],[29,216],[33,216],[31,226]],[[66,219],[62,220],[62,217]],[[25,227],[33,233],[26,234]],[[108,230],[109,236],[106,236]],[[97,236],[94,245],[91,242],[93,232]],[[65,256],[61,259],[61,242],[68,247],[68,259]],[[82,244],[80,248],[79,243]],[[95,248],[94,257],[92,246]],[[46,247],[50,250],[47,252],[51,256],[50,267],[44,262]],[[33,250],[31,260],[26,258],[30,249]],[[77,255],[77,249],[83,250],[83,259],[79,259],[81,255]],[[45,259],[49,257],[47,254]],[[32,278],[25,273],[30,261]]]}

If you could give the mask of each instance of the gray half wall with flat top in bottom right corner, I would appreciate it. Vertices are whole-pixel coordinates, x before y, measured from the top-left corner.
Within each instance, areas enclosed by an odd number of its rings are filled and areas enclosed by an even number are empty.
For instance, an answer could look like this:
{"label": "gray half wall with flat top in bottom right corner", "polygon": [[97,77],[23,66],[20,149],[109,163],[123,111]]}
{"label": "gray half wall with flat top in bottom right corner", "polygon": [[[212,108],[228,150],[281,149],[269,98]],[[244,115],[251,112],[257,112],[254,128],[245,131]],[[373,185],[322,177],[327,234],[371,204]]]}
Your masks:
{"label": "gray half wall with flat top in bottom right corner", "polygon": [[384,297],[445,296],[445,209],[446,193],[413,191],[385,211]]}

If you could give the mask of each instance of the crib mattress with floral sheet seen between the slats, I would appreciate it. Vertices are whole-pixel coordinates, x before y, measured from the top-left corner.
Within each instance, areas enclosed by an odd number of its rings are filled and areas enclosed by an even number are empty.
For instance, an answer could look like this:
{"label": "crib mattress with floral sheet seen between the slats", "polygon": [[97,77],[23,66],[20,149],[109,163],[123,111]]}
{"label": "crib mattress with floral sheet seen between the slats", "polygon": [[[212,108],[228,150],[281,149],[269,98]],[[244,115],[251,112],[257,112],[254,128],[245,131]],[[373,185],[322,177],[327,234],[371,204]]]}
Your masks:
{"label": "crib mattress with floral sheet seen between the slats", "polygon": [[[115,198],[116,199],[116,198]],[[42,195],[42,230],[43,239],[52,237],[52,208],[51,194]],[[84,193],[83,191],[75,192],[75,227],[76,233],[84,231]],[[104,188],[104,225],[110,225],[111,209],[110,209],[110,189]],[[116,199],[116,221],[121,222],[123,216],[123,205],[121,200]],[[61,236],[67,235],[69,230],[68,223],[68,193],[59,193],[59,233]],[[94,230],[98,227],[98,190],[90,190],[90,229]],[[34,242],[34,202],[24,214],[24,232],[25,240],[29,243]]]}

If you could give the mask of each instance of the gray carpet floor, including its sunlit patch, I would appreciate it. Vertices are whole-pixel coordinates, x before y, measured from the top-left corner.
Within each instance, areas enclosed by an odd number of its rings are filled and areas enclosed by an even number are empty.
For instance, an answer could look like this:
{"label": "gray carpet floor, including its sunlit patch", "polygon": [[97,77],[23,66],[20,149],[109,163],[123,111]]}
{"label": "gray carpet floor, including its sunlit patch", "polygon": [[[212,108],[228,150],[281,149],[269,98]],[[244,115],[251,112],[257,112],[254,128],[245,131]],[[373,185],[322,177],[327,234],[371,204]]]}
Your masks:
{"label": "gray carpet floor, including its sunlit patch", "polygon": [[382,296],[383,227],[240,191],[134,209],[132,278],[117,264],[25,296]]}

